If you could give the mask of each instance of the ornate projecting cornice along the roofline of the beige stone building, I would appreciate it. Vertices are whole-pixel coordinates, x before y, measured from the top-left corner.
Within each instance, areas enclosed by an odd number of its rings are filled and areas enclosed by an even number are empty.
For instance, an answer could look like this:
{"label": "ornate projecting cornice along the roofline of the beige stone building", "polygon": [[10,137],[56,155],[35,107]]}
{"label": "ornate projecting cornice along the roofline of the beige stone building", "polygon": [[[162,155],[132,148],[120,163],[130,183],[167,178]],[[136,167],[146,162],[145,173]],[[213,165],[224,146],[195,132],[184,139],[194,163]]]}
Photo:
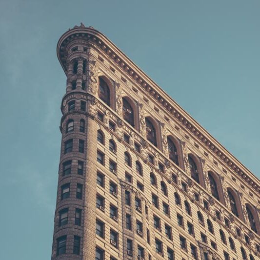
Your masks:
{"label": "ornate projecting cornice along the roofline of the beige stone building", "polygon": [[217,140],[196,122],[178,103],[165,93],[151,80],[133,61],[131,61],[113,42],[92,27],[76,26],[64,33],[57,45],[57,55],[61,66],[66,73],[68,50],[67,45],[74,40],[84,40],[87,44],[94,44],[100,53],[105,54],[117,64],[118,69],[127,77],[136,82],[142,91],[167,111],[168,115],[178,120],[180,125],[192,134],[197,140],[211,150],[224,164],[237,173],[243,181],[260,193],[260,181],[239,160],[229,153]]}

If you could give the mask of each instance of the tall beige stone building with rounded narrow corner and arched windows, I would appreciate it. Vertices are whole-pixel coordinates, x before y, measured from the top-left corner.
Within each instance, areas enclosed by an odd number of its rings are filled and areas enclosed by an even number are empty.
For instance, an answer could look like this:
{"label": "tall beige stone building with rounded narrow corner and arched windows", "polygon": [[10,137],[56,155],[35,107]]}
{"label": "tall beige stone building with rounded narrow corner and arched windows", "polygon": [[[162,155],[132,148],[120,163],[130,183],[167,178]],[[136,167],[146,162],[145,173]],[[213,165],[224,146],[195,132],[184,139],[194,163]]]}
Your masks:
{"label": "tall beige stone building with rounded narrow corner and arched windows", "polygon": [[57,53],[52,260],[260,259],[260,181],[94,28]]}

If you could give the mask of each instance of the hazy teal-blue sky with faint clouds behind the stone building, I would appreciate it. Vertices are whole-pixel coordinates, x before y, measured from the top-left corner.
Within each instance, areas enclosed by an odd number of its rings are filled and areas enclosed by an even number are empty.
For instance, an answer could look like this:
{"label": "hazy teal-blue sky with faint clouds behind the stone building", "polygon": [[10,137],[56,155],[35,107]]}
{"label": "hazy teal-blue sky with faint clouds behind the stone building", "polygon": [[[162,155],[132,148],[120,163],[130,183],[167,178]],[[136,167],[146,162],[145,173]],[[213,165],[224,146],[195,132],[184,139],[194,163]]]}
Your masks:
{"label": "hazy teal-blue sky with faint clouds behind the stone building", "polygon": [[0,259],[51,258],[66,78],[93,26],[260,178],[259,0],[0,1]]}

